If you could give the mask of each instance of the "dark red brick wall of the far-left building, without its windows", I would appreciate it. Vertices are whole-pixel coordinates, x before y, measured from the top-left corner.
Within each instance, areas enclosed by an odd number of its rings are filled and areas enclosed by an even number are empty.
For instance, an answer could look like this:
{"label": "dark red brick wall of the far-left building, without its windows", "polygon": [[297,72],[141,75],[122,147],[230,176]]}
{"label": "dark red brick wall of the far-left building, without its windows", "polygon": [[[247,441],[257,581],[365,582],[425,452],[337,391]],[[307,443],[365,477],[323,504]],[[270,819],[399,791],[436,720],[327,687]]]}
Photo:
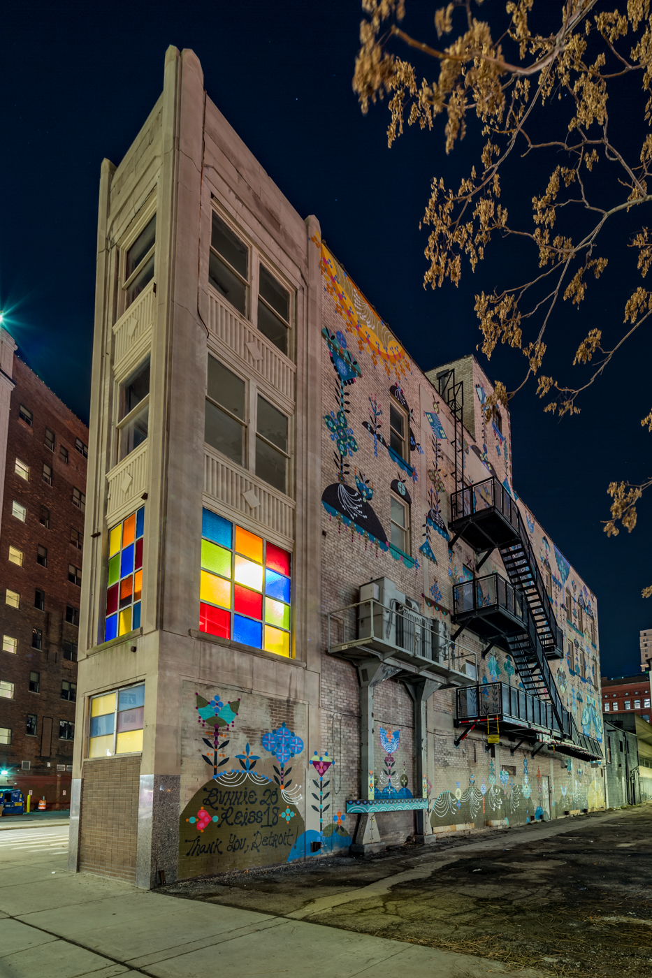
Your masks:
{"label": "dark red brick wall of the far-left building, without its windows", "polygon": [[[72,741],[60,739],[59,724],[74,721],[75,704],[62,698],[62,681],[76,683],[77,666],[64,658],[63,644],[77,643],[78,629],[66,621],[66,608],[79,607],[80,588],[69,582],[69,565],[82,566],[82,551],[71,545],[70,530],[83,534],[84,513],[72,505],[72,488],[85,492],[86,459],[75,450],[75,439],[87,444],[88,429],[18,357],[14,379],[0,532],[0,638],[17,639],[18,652],[0,650],[0,679],[14,684],[13,700],[0,699],[0,726],[12,730],[11,747],[0,746],[0,764],[16,769],[29,761],[38,775],[52,773],[52,791],[45,794],[54,801],[57,765],[72,763]],[[19,417],[22,404],[33,416],[31,426]],[[54,451],[45,444],[46,427],[55,434]],[[29,467],[26,481],[15,471],[17,459]],[[52,485],[43,480],[44,463],[53,469]],[[24,522],[13,515],[14,501],[26,510]],[[40,522],[42,506],[50,511],[49,528]],[[39,545],[47,549],[46,566],[37,562]],[[10,546],[23,552],[23,566],[10,562]],[[20,594],[20,608],[6,603],[7,588]],[[37,588],[45,593],[43,610],[34,605]],[[33,629],[42,632],[40,650],[32,647]],[[40,676],[38,693],[29,691],[32,671]],[[37,717],[35,736],[26,734],[27,714]],[[43,737],[50,722],[51,740]]]}

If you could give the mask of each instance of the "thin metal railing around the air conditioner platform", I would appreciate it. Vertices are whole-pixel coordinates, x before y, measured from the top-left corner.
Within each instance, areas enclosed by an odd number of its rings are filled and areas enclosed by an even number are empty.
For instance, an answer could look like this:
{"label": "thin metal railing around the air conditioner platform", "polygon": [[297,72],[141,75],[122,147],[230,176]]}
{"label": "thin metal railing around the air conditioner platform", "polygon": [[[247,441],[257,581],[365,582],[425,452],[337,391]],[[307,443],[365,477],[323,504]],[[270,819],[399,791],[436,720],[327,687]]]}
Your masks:
{"label": "thin metal railing around the air conditioner platform", "polygon": [[449,642],[441,622],[410,611],[397,601],[390,607],[373,599],[356,601],[330,611],[327,618],[329,649],[364,640],[442,665],[449,662]]}

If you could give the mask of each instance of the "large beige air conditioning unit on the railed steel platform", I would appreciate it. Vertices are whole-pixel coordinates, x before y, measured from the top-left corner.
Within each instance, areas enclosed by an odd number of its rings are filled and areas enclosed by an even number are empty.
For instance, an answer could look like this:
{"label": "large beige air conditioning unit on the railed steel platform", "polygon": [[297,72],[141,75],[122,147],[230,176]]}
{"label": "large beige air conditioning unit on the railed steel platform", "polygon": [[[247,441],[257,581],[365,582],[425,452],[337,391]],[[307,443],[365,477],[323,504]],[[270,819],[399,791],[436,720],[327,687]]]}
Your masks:
{"label": "large beige air conditioning unit on the railed steel platform", "polygon": [[358,639],[393,645],[420,658],[439,661],[447,649],[445,624],[422,615],[418,601],[398,590],[394,581],[379,577],[360,587]]}

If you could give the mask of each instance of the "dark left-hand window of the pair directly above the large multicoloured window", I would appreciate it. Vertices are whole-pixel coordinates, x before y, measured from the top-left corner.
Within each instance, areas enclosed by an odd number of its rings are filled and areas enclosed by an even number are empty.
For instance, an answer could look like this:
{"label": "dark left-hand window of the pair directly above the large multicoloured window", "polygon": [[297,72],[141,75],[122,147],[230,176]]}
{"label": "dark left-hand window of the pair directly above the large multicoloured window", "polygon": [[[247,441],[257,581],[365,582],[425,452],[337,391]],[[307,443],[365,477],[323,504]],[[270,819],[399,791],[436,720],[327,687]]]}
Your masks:
{"label": "dark left-hand window of the pair directly above the large multicoloured window", "polygon": [[239,466],[245,453],[245,381],[209,357],[205,440]]}

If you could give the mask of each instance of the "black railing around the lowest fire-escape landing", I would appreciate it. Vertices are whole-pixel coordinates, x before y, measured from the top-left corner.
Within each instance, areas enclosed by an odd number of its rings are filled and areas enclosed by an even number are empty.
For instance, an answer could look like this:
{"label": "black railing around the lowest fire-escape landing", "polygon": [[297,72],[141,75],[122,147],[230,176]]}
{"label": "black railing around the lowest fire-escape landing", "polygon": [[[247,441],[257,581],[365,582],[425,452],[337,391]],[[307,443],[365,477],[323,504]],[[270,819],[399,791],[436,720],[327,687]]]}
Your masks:
{"label": "black railing around the lowest fire-escape landing", "polygon": [[517,720],[543,730],[560,730],[552,704],[506,683],[484,683],[455,690],[458,720]]}

